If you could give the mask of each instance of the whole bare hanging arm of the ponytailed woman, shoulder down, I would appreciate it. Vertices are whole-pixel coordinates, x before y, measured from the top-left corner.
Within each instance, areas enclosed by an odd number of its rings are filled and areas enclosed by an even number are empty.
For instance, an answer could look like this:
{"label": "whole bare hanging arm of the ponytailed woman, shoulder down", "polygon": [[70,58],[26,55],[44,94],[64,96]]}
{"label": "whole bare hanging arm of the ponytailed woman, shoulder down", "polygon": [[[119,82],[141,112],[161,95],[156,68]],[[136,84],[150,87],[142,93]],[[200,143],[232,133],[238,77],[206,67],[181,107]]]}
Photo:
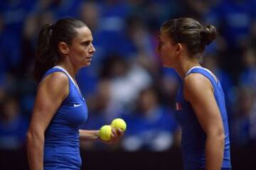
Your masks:
{"label": "whole bare hanging arm of the ponytailed woman, shoulder down", "polygon": [[55,72],[38,86],[31,123],[27,132],[28,164],[31,170],[43,169],[44,134],[50,120],[68,96],[68,77]]}

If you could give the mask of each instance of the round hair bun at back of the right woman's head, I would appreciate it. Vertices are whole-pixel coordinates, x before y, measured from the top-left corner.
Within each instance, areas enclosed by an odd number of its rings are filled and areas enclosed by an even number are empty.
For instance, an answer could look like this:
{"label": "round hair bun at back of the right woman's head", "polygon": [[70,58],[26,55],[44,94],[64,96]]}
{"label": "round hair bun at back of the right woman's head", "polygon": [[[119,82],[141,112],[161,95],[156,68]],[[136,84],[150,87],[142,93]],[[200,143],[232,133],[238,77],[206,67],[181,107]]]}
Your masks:
{"label": "round hair bun at back of the right woman's head", "polygon": [[217,35],[217,31],[214,26],[205,26],[200,31],[201,43],[204,45],[209,45]]}

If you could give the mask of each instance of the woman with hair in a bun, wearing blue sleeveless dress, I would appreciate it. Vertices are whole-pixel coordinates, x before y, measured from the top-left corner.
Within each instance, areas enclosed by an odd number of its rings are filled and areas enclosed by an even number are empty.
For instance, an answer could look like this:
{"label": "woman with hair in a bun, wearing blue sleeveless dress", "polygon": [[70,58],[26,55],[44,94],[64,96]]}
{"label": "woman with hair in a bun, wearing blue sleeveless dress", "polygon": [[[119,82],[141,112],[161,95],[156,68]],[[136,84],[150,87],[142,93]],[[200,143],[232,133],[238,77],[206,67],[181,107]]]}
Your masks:
{"label": "woman with hair in a bun, wearing blue sleeveless dress", "polygon": [[176,96],[176,118],[181,124],[183,169],[231,169],[230,139],[225,99],[220,81],[199,63],[206,45],[215,39],[214,26],[193,18],[164,23],[159,55],[164,67],[183,79]]}

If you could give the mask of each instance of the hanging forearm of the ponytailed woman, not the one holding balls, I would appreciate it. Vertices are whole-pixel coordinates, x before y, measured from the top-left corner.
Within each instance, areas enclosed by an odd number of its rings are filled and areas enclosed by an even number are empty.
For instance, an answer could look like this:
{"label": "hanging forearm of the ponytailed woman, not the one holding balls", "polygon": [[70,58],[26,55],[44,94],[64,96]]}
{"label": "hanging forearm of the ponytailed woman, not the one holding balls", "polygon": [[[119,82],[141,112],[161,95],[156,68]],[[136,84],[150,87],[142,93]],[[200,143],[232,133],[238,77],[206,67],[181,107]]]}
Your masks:
{"label": "hanging forearm of the ponytailed woman, not the one holding balls", "polygon": [[43,170],[43,135],[27,133],[27,152],[30,170]]}

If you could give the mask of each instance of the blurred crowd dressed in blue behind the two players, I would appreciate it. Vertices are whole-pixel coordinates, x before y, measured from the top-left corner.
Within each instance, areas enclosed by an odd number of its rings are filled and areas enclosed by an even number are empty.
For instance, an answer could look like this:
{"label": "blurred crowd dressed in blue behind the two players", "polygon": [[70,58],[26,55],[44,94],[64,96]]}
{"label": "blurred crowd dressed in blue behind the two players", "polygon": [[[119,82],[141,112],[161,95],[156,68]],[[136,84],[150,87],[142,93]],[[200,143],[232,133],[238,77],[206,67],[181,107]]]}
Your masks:
{"label": "blurred crowd dressed in blue behind the two players", "polygon": [[174,70],[161,67],[156,53],[161,24],[177,17],[218,29],[202,64],[223,84],[231,145],[255,146],[255,0],[1,0],[0,150],[26,147],[38,31],[63,17],[84,21],[96,49],[91,66],[77,76],[89,108],[82,128],[98,129],[114,118],[127,122],[117,145],[85,142],[82,149],[164,152],[179,147],[173,111],[181,80]]}

